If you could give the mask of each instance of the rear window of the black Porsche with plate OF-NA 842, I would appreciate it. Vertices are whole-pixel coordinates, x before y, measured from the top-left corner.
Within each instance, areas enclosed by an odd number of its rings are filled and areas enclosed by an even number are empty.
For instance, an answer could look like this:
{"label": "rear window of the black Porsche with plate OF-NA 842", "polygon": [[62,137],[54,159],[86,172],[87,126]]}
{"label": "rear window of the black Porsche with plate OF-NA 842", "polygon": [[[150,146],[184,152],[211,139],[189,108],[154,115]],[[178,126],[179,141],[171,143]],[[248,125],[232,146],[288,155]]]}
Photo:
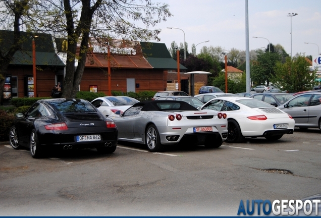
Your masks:
{"label": "rear window of the black Porsche with plate OF-NA 842", "polygon": [[94,106],[83,99],[65,99],[47,101],[57,111],[65,113],[96,112]]}

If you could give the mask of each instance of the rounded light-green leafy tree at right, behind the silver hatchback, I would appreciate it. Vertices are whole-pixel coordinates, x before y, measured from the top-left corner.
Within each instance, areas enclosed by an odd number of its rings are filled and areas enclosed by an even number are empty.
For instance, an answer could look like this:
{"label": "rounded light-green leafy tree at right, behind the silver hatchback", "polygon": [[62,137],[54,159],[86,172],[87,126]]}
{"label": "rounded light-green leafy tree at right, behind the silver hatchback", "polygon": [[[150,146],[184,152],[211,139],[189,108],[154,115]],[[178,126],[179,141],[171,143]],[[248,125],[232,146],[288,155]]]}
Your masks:
{"label": "rounded light-green leafy tree at right, behind the silver hatchback", "polygon": [[315,85],[316,69],[310,71],[310,65],[302,56],[291,59],[286,58],[283,64],[278,62],[272,82],[289,92],[309,90]]}

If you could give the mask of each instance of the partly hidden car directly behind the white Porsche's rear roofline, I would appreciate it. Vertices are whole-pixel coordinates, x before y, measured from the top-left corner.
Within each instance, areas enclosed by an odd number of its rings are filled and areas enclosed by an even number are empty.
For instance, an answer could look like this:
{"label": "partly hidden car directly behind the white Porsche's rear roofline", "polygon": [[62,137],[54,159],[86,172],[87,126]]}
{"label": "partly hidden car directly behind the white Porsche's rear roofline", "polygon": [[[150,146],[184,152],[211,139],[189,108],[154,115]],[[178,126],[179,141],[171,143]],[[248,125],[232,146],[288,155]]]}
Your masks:
{"label": "partly hidden car directly behind the white Porsche's rear roofline", "polygon": [[273,106],[280,106],[284,104],[291,98],[293,95],[288,93],[280,93],[280,92],[264,92],[264,93],[255,93],[249,96],[250,98],[255,98],[257,100],[265,101]]}

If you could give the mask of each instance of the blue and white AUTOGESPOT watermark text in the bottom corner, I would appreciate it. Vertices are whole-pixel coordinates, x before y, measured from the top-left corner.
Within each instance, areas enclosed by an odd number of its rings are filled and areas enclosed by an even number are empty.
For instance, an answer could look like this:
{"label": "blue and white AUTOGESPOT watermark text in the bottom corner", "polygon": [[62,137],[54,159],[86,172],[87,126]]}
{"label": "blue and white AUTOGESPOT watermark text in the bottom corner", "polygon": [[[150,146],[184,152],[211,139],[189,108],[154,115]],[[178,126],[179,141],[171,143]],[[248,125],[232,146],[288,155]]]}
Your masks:
{"label": "blue and white AUTOGESPOT watermark text in the bottom corner", "polygon": [[[271,212],[274,215],[301,215],[302,211],[305,215],[310,215],[315,210],[315,215],[318,215],[318,204],[321,204],[320,199],[313,200],[246,200],[244,205],[241,200],[238,215],[260,215],[261,211],[264,215],[269,215]],[[254,214],[254,212],[257,214]],[[321,213],[320,213],[321,214]]]}

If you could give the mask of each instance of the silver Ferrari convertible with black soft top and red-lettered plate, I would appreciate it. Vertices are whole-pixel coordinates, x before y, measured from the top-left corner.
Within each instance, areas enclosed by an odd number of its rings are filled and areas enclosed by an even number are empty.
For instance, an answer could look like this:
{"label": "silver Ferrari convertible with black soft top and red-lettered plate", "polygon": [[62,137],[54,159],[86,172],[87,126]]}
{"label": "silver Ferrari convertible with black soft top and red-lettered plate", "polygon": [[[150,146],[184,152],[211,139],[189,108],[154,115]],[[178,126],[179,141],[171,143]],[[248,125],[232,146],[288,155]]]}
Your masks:
{"label": "silver Ferrari convertible with black soft top and red-lettered plate", "polygon": [[184,101],[138,102],[110,118],[118,127],[118,140],[146,144],[151,152],[178,143],[220,147],[228,134],[226,114],[198,111]]}

